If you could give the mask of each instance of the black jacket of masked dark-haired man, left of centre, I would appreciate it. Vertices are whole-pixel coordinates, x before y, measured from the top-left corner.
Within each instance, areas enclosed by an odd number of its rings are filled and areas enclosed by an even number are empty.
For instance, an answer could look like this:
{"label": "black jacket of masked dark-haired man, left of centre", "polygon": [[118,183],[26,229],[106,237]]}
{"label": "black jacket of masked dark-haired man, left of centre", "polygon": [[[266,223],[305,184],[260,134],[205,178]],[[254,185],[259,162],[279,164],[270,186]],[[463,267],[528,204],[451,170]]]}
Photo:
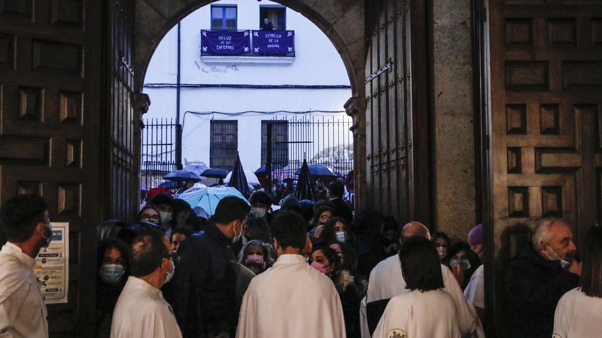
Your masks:
{"label": "black jacket of masked dark-haired man, left of centre", "polygon": [[205,337],[208,327],[238,323],[236,275],[230,239],[208,224],[182,242],[178,266],[164,295],[172,305],[184,337]]}

